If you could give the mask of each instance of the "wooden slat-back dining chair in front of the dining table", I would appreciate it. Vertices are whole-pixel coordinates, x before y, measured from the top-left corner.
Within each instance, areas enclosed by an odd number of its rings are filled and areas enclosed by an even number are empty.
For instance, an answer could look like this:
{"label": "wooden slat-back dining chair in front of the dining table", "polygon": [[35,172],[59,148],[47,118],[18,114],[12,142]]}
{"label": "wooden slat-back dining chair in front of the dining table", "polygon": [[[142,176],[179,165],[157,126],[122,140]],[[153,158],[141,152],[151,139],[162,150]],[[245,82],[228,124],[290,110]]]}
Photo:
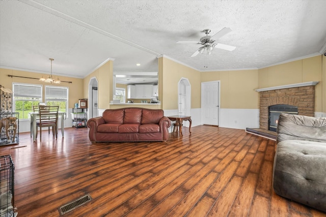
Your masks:
{"label": "wooden slat-back dining chair in front of the dining table", "polygon": [[58,138],[58,113],[59,106],[39,106],[40,119],[36,122],[36,126],[40,128],[40,141],[42,141],[42,128],[44,127],[52,127],[52,135]]}

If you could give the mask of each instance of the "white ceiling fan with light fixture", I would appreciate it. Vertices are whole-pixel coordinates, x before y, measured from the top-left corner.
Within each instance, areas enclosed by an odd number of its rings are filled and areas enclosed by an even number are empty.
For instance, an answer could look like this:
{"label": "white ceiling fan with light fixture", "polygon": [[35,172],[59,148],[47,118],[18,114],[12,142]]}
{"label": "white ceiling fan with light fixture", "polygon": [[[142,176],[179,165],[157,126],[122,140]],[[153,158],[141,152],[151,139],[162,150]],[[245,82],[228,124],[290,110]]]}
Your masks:
{"label": "white ceiling fan with light fixture", "polygon": [[226,34],[232,32],[232,29],[229,27],[224,27],[220,30],[220,32],[216,33],[213,36],[208,36],[210,33],[210,29],[204,29],[203,32],[206,34],[206,36],[202,37],[199,42],[192,42],[192,41],[178,41],[177,44],[202,44],[203,46],[200,47],[198,50],[196,50],[191,57],[197,56],[198,53],[204,53],[207,51],[208,54],[211,54],[214,47],[229,50],[232,51],[235,49],[234,46],[226,45],[226,44],[220,44],[220,43],[214,43],[216,39],[219,39]]}

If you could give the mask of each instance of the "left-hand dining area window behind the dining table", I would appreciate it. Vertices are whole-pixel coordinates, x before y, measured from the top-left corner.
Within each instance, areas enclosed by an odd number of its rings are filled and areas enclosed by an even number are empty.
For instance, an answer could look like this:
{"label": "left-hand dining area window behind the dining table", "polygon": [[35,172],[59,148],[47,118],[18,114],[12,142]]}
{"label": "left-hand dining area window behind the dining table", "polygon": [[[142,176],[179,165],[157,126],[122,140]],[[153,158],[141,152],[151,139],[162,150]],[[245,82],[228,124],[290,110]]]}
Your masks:
{"label": "left-hand dining area window behind the dining table", "polygon": [[42,85],[13,83],[13,111],[19,112],[19,119],[28,119],[33,105],[42,102]]}

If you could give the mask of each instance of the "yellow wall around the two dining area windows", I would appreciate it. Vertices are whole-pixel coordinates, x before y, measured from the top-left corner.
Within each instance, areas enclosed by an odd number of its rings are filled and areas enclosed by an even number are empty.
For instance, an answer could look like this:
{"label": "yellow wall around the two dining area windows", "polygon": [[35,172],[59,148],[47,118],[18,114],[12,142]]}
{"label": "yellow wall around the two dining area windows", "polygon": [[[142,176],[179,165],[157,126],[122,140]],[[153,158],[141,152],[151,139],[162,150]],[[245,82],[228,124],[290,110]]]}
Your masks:
{"label": "yellow wall around the two dining area windows", "polygon": [[[73,108],[74,103],[78,102],[78,99],[82,99],[84,94],[84,83],[83,79],[80,78],[71,78],[59,76],[62,81],[72,81],[72,83],[61,82],[60,84],[50,84],[39,81],[38,79],[29,79],[29,78],[17,78],[17,77],[8,77],[8,75],[21,76],[21,77],[31,77],[31,78],[40,78],[42,74],[34,72],[25,72],[19,70],[11,69],[1,69],[0,68],[0,84],[4,87],[12,90],[12,83],[26,83],[26,84],[42,84],[43,85],[43,102],[44,100],[44,89],[45,85],[53,86],[64,86],[69,87],[69,98],[68,98],[68,108]],[[46,75],[44,75],[45,77]],[[56,77],[56,76],[55,76]]]}

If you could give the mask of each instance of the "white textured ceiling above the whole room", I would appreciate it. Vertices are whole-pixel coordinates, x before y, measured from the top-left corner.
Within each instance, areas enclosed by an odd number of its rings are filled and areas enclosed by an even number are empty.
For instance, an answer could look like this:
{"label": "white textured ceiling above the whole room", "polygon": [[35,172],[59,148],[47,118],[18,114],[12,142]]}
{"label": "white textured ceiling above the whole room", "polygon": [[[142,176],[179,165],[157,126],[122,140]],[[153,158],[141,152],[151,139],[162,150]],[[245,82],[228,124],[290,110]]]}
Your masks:
{"label": "white textured ceiling above the whole room", "polygon": [[[0,67],[84,78],[157,72],[165,55],[198,71],[257,69],[326,49],[326,1],[0,1]],[[232,32],[211,55],[190,57],[205,28]],[[137,67],[136,64],[141,66]],[[207,68],[206,68],[207,67]],[[122,73],[121,73],[122,74]]]}

